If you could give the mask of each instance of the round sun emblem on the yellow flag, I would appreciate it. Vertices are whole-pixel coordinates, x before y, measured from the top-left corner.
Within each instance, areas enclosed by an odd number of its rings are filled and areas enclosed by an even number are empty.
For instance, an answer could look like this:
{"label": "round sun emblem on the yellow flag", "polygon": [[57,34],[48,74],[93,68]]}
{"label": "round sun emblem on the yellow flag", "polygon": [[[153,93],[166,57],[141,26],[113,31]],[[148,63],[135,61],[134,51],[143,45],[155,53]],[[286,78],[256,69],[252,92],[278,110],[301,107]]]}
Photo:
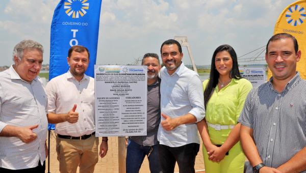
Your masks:
{"label": "round sun emblem on the yellow flag", "polygon": [[286,12],[287,22],[292,26],[300,25],[304,22],[306,14],[304,7],[299,5],[291,6]]}

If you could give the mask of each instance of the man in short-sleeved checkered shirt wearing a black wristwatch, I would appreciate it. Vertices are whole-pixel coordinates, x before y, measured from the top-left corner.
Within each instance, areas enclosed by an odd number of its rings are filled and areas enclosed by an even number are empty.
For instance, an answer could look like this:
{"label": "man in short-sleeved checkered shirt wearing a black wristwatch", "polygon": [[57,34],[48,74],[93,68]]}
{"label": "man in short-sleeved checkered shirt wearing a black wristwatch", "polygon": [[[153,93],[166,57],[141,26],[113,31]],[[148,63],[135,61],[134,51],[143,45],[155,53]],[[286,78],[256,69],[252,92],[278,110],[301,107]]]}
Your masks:
{"label": "man in short-sleeved checkered shirt wearing a black wristwatch", "polygon": [[238,120],[253,172],[306,172],[306,81],[296,72],[300,57],[290,34],[268,41],[272,77],[250,91]]}

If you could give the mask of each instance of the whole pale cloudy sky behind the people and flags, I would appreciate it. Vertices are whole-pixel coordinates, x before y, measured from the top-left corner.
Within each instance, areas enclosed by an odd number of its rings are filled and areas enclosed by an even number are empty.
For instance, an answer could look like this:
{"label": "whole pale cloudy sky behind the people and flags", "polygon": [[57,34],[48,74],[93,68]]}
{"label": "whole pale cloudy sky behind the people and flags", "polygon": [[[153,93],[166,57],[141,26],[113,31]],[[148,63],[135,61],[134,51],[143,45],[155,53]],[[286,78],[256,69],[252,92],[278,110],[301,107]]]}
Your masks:
{"label": "whole pale cloudy sky behind the people and flags", "polygon": [[[89,0],[93,1],[93,0]],[[2,0],[0,66],[10,66],[13,47],[23,39],[44,46],[49,63],[50,24],[59,0]],[[211,64],[222,44],[239,56],[267,44],[288,0],[103,0],[96,64],[132,64],[145,53],[158,53],[174,36],[186,36],[196,65]],[[190,65],[186,47],[183,61]],[[246,56],[244,56],[246,57]],[[264,63],[264,62],[263,62]]]}

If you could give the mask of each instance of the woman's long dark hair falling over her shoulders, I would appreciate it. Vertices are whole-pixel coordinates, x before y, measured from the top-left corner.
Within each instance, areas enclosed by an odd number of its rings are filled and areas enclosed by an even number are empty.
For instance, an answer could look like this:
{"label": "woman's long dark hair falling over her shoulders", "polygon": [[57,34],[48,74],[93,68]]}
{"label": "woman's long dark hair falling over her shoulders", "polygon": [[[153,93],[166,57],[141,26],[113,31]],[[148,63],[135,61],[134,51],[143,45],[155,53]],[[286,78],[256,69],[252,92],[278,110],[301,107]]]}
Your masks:
{"label": "woman's long dark hair falling over her shoulders", "polygon": [[230,53],[230,55],[232,57],[232,60],[233,60],[233,68],[230,72],[230,78],[235,78],[235,79],[242,78],[240,73],[239,73],[237,54],[236,54],[234,48],[230,45],[227,45],[227,44],[223,44],[223,45],[217,47],[214,54],[213,54],[213,57],[212,57],[212,65],[211,65],[211,71],[210,71],[210,75],[209,75],[209,81],[208,81],[208,84],[207,84],[206,89],[204,91],[205,108],[206,108],[206,105],[207,105],[209,99],[211,98],[212,91],[214,90],[214,88],[218,84],[218,79],[219,79],[219,72],[216,69],[215,58],[216,58],[217,53],[219,53],[221,51],[224,51],[224,50],[227,51],[228,53]]}

